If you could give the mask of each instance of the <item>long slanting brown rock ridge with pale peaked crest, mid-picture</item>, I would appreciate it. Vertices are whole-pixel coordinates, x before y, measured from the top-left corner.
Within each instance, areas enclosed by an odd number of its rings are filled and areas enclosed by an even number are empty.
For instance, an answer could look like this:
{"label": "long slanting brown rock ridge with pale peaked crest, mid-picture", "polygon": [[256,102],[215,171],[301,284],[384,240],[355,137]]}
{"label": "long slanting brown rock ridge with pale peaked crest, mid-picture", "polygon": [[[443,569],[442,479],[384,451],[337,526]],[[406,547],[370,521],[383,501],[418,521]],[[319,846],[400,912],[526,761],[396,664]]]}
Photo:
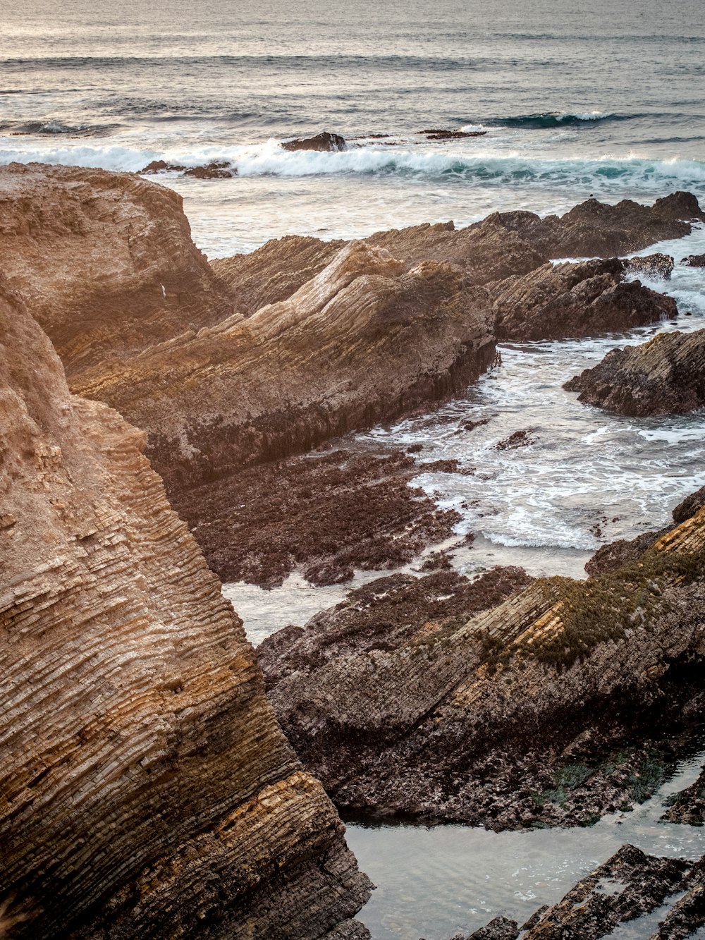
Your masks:
{"label": "long slanting brown rock ridge with pale peaked crest, mid-picture", "polygon": [[149,429],[149,457],[179,491],[446,399],[493,349],[484,290],[357,242],[289,300],[86,373],[78,389]]}

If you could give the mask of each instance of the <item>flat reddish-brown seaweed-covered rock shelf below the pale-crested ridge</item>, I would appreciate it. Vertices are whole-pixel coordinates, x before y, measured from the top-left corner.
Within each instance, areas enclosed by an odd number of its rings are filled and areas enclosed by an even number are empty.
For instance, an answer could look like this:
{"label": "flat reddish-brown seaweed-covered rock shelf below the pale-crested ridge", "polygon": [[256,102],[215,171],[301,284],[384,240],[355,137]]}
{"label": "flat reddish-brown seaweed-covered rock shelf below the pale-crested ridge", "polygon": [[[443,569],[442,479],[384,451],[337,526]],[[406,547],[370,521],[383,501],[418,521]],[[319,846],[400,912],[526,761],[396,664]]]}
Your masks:
{"label": "flat reddish-brown seaweed-covered rock shelf below the pale-crested ridge", "polygon": [[355,568],[399,568],[452,535],[459,514],[410,487],[417,473],[401,451],[335,450],[245,469],[174,505],[223,581],[275,587],[298,569],[312,584],[339,584]]}

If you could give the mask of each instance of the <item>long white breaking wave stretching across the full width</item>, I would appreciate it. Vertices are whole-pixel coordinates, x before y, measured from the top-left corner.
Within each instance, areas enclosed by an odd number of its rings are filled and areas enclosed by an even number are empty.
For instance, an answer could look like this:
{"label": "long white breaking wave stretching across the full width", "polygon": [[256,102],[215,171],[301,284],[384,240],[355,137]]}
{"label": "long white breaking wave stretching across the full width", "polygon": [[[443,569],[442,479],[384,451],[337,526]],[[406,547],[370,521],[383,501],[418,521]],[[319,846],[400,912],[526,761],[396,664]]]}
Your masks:
{"label": "long white breaking wave stretching across the full width", "polygon": [[[240,177],[315,177],[348,175],[398,175],[419,180],[470,182],[487,186],[530,184],[551,188],[591,187],[611,192],[625,186],[662,194],[668,188],[705,188],[705,162],[696,160],[645,160],[640,157],[604,156],[599,159],[543,159],[521,153],[497,153],[472,145],[465,149],[402,149],[381,146],[359,147],[337,153],[310,150],[287,151],[278,142],[203,149],[134,149],[116,145],[96,147],[21,146],[0,149],[0,163],[44,162],[101,166],[104,169],[137,171],[153,160],[183,166],[223,161],[236,168]],[[27,142],[29,143],[29,141]]]}

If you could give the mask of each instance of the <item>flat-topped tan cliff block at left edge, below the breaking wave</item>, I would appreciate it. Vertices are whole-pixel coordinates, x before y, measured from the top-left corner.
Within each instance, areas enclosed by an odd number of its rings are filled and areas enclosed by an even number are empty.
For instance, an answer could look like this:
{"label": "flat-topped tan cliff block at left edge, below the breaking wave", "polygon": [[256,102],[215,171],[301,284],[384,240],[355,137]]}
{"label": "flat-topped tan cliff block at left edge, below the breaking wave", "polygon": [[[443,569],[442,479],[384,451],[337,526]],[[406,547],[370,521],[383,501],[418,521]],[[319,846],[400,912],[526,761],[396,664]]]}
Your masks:
{"label": "flat-topped tan cliff block at left edge, below the breaking wave", "polygon": [[3,271],[71,384],[237,305],[191,241],[181,197],[127,173],[0,167]]}

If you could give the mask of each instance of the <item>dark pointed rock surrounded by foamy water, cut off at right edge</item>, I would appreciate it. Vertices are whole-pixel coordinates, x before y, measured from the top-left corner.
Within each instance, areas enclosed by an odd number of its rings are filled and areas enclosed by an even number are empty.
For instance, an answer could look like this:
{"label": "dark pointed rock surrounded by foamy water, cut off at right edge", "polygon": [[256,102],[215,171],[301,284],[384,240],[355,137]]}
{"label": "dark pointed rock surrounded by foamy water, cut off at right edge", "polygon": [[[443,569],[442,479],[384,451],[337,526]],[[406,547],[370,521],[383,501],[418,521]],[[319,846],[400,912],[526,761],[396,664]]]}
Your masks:
{"label": "dark pointed rock surrounded by foamy water, cut off at right edge", "polygon": [[619,415],[683,415],[705,405],[705,330],[659,333],[610,350],[563,385],[578,401]]}

